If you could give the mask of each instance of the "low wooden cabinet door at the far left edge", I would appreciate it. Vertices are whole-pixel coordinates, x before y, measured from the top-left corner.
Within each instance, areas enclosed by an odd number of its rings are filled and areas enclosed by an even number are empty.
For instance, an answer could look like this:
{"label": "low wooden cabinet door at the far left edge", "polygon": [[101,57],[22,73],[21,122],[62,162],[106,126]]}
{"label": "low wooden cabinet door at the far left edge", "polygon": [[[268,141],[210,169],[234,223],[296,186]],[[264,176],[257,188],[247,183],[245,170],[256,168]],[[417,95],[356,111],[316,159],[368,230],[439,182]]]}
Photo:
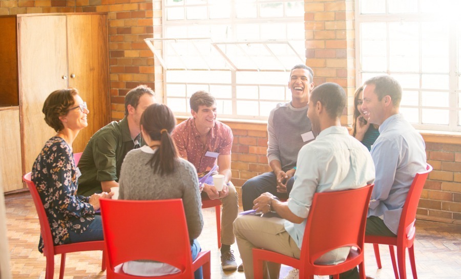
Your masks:
{"label": "low wooden cabinet door at the far left edge", "polygon": [[0,110],[0,187],[4,192],[23,188],[19,110]]}

